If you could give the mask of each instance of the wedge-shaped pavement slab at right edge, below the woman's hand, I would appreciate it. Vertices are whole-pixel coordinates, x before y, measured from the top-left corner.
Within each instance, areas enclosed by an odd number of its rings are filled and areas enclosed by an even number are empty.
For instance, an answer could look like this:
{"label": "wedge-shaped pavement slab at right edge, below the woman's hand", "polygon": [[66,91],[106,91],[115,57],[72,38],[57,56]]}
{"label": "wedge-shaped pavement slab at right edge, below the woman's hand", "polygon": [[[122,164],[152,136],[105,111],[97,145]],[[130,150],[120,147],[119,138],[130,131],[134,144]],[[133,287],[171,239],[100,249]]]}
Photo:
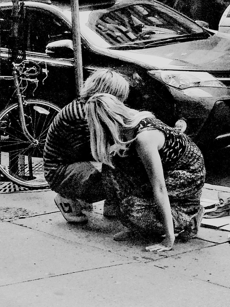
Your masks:
{"label": "wedge-shaped pavement slab at right edge, below the woman's hand", "polygon": [[154,262],[154,265],[163,267],[168,272],[192,276],[230,289],[229,253],[229,243],[223,243],[198,251],[190,251],[183,254],[183,257],[177,255],[159,259]]}

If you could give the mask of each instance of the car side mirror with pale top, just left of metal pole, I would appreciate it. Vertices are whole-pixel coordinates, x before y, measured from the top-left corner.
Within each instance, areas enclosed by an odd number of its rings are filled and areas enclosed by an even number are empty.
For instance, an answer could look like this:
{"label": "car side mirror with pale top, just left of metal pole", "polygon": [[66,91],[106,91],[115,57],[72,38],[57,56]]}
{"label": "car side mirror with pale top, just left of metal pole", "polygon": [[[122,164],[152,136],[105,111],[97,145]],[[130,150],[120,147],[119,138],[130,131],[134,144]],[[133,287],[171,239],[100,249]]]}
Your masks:
{"label": "car side mirror with pale top, just left of metal pole", "polygon": [[46,46],[45,53],[53,58],[73,58],[73,42],[70,39],[52,41]]}

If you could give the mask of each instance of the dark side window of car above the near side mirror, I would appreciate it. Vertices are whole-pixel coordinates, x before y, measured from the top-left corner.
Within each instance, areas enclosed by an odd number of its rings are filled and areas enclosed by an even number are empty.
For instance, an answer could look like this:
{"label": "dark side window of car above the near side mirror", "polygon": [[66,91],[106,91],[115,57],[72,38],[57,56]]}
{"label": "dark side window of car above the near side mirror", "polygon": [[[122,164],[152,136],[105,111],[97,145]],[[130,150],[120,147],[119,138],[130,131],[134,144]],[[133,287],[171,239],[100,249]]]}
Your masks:
{"label": "dark side window of car above the near side mirror", "polygon": [[25,31],[27,50],[34,52],[45,53],[48,43],[72,38],[71,29],[61,18],[43,10],[27,10]]}

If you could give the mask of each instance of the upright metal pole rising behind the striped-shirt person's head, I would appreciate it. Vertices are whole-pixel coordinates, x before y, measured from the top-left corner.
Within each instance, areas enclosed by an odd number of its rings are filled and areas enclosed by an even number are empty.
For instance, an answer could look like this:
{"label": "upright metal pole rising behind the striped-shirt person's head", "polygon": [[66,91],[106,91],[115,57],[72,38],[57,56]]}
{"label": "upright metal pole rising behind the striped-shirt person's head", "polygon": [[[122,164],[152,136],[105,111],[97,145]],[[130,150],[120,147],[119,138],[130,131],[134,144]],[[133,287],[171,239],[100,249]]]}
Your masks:
{"label": "upright metal pole rising behind the striped-shirt person's head", "polygon": [[80,35],[80,24],[79,24],[79,2],[78,0],[70,0],[70,3],[71,3],[72,27],[73,27],[76,96],[79,97],[81,87],[83,85],[82,49],[81,49],[81,35]]}

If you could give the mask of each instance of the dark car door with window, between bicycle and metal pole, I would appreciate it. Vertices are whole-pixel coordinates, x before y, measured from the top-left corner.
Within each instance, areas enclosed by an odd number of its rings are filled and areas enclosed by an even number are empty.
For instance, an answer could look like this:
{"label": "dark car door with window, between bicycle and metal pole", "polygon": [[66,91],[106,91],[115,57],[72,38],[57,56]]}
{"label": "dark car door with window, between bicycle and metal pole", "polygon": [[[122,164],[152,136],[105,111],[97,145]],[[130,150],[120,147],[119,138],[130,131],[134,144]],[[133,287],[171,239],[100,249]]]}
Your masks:
{"label": "dark car door with window, between bicycle and metal pole", "polygon": [[27,59],[47,65],[48,77],[35,92],[36,98],[45,99],[63,107],[75,98],[73,59],[52,58],[45,53],[48,43],[71,39],[72,30],[61,16],[51,11],[27,7],[25,13]]}

